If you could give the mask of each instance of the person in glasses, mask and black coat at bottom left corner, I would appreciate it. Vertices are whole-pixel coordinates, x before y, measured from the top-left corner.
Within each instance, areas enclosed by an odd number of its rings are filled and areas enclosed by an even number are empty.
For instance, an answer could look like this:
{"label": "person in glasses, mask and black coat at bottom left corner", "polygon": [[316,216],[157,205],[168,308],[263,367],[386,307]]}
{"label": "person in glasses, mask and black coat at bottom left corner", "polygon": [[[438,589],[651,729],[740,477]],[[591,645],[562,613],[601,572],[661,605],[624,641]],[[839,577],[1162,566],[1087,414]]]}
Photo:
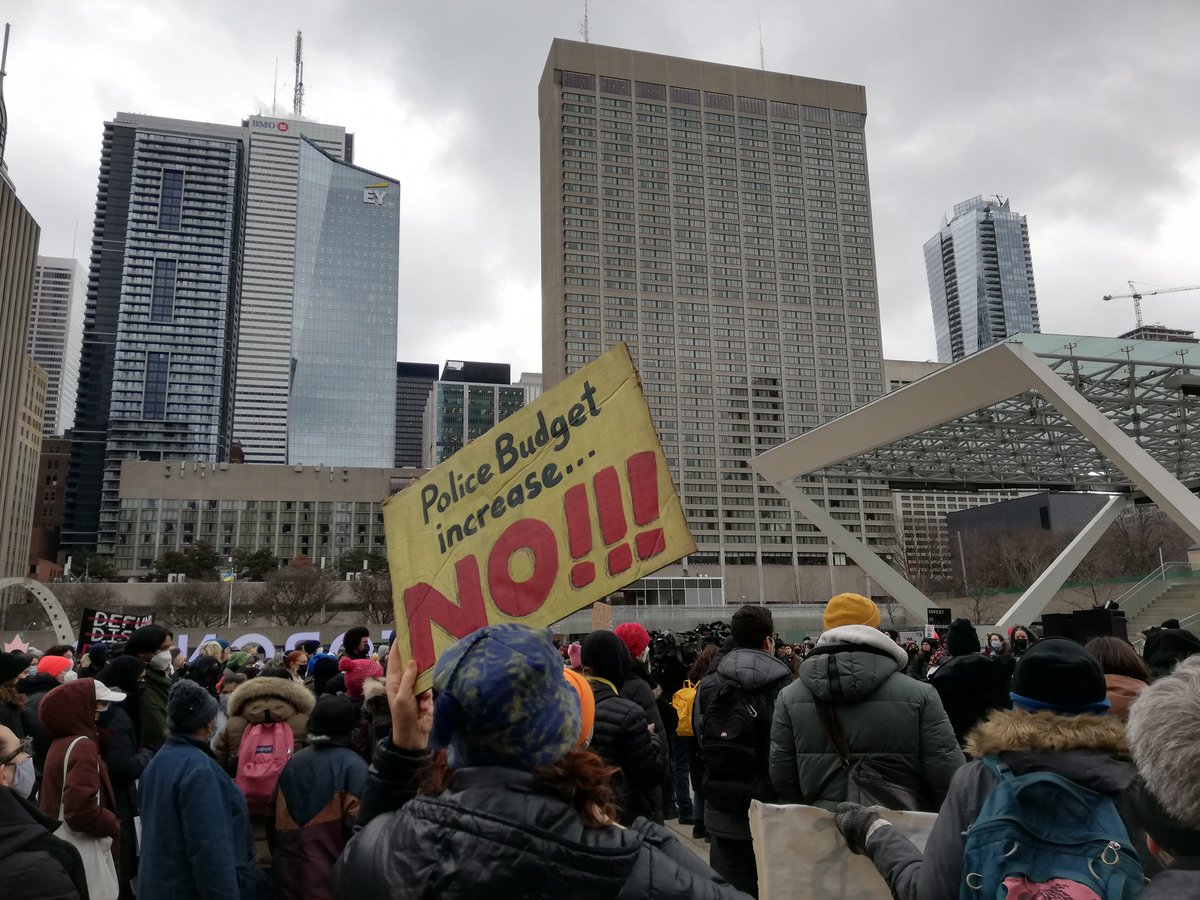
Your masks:
{"label": "person in glasses, mask and black coat at bottom left corner", "polygon": [[0,726],[0,884],[13,896],[85,899],[88,878],[79,851],[54,836],[58,822],[11,788],[25,758],[17,736]]}

